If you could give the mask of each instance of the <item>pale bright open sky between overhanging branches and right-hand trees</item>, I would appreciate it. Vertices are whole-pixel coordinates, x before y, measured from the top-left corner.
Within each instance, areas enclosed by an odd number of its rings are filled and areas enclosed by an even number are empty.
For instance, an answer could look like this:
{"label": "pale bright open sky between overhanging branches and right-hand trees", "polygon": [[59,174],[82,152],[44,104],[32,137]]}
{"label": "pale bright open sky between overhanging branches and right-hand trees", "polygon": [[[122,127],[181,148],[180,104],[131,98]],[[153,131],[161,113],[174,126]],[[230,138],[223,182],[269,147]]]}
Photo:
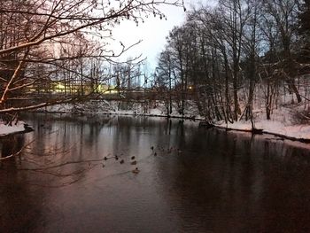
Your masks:
{"label": "pale bright open sky between overhanging branches and right-hand trees", "polygon": [[[186,8],[190,9],[190,5],[195,2],[198,2],[198,0],[185,1]],[[139,24],[138,27],[133,21],[124,21],[113,30],[113,37],[126,46],[143,40],[142,43],[137,44],[124,55],[125,59],[142,54],[142,58],[147,58],[149,68],[153,69],[156,66],[157,57],[165,47],[169,31],[174,26],[181,26],[185,20],[185,12],[182,7],[165,5],[161,6],[160,9],[167,15],[167,20],[150,17],[145,19],[144,23]]]}

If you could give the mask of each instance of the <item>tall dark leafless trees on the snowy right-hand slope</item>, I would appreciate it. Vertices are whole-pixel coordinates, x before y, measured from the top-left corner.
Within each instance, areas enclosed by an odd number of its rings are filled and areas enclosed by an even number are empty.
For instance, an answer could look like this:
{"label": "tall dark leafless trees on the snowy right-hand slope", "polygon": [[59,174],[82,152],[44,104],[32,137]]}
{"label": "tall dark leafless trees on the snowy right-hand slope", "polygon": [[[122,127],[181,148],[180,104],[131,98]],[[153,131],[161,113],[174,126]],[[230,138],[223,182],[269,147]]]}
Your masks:
{"label": "tall dark leafless trees on the snowy right-hand slope", "polygon": [[252,120],[255,94],[263,93],[267,119],[280,88],[302,102],[296,82],[310,73],[309,9],[309,1],[219,0],[188,12],[159,56],[168,105],[178,89],[181,112],[191,95],[207,120],[233,122]]}

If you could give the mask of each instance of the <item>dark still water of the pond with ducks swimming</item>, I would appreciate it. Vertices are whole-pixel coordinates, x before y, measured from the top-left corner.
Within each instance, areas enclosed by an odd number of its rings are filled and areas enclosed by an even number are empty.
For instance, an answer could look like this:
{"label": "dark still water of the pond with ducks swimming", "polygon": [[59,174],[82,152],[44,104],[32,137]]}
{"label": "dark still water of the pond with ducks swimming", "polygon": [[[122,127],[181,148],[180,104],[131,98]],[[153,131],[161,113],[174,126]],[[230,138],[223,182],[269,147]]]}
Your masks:
{"label": "dark still water of the pond with ducks swimming", "polygon": [[310,232],[307,146],[156,118],[27,122],[1,141],[26,148],[0,164],[0,232]]}

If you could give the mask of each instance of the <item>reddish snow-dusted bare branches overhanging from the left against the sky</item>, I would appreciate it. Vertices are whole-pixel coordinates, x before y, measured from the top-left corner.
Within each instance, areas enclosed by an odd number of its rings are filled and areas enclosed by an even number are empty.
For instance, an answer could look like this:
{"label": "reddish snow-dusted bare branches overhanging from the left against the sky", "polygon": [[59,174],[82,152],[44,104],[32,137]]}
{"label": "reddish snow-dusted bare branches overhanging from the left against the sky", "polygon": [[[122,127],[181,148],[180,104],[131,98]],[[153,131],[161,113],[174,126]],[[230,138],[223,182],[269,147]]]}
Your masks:
{"label": "reddish snow-dusted bare branches overhanging from the left against the sky", "polygon": [[[160,4],[183,5],[178,0],[2,1],[0,113],[78,101],[86,85],[95,92],[98,82],[111,78],[105,70],[118,66],[116,58],[131,47],[112,46],[112,28],[122,20],[138,25],[151,16],[165,19]],[[68,91],[70,85],[81,88],[70,97],[28,99],[29,91],[44,92],[55,81],[65,82]]]}

